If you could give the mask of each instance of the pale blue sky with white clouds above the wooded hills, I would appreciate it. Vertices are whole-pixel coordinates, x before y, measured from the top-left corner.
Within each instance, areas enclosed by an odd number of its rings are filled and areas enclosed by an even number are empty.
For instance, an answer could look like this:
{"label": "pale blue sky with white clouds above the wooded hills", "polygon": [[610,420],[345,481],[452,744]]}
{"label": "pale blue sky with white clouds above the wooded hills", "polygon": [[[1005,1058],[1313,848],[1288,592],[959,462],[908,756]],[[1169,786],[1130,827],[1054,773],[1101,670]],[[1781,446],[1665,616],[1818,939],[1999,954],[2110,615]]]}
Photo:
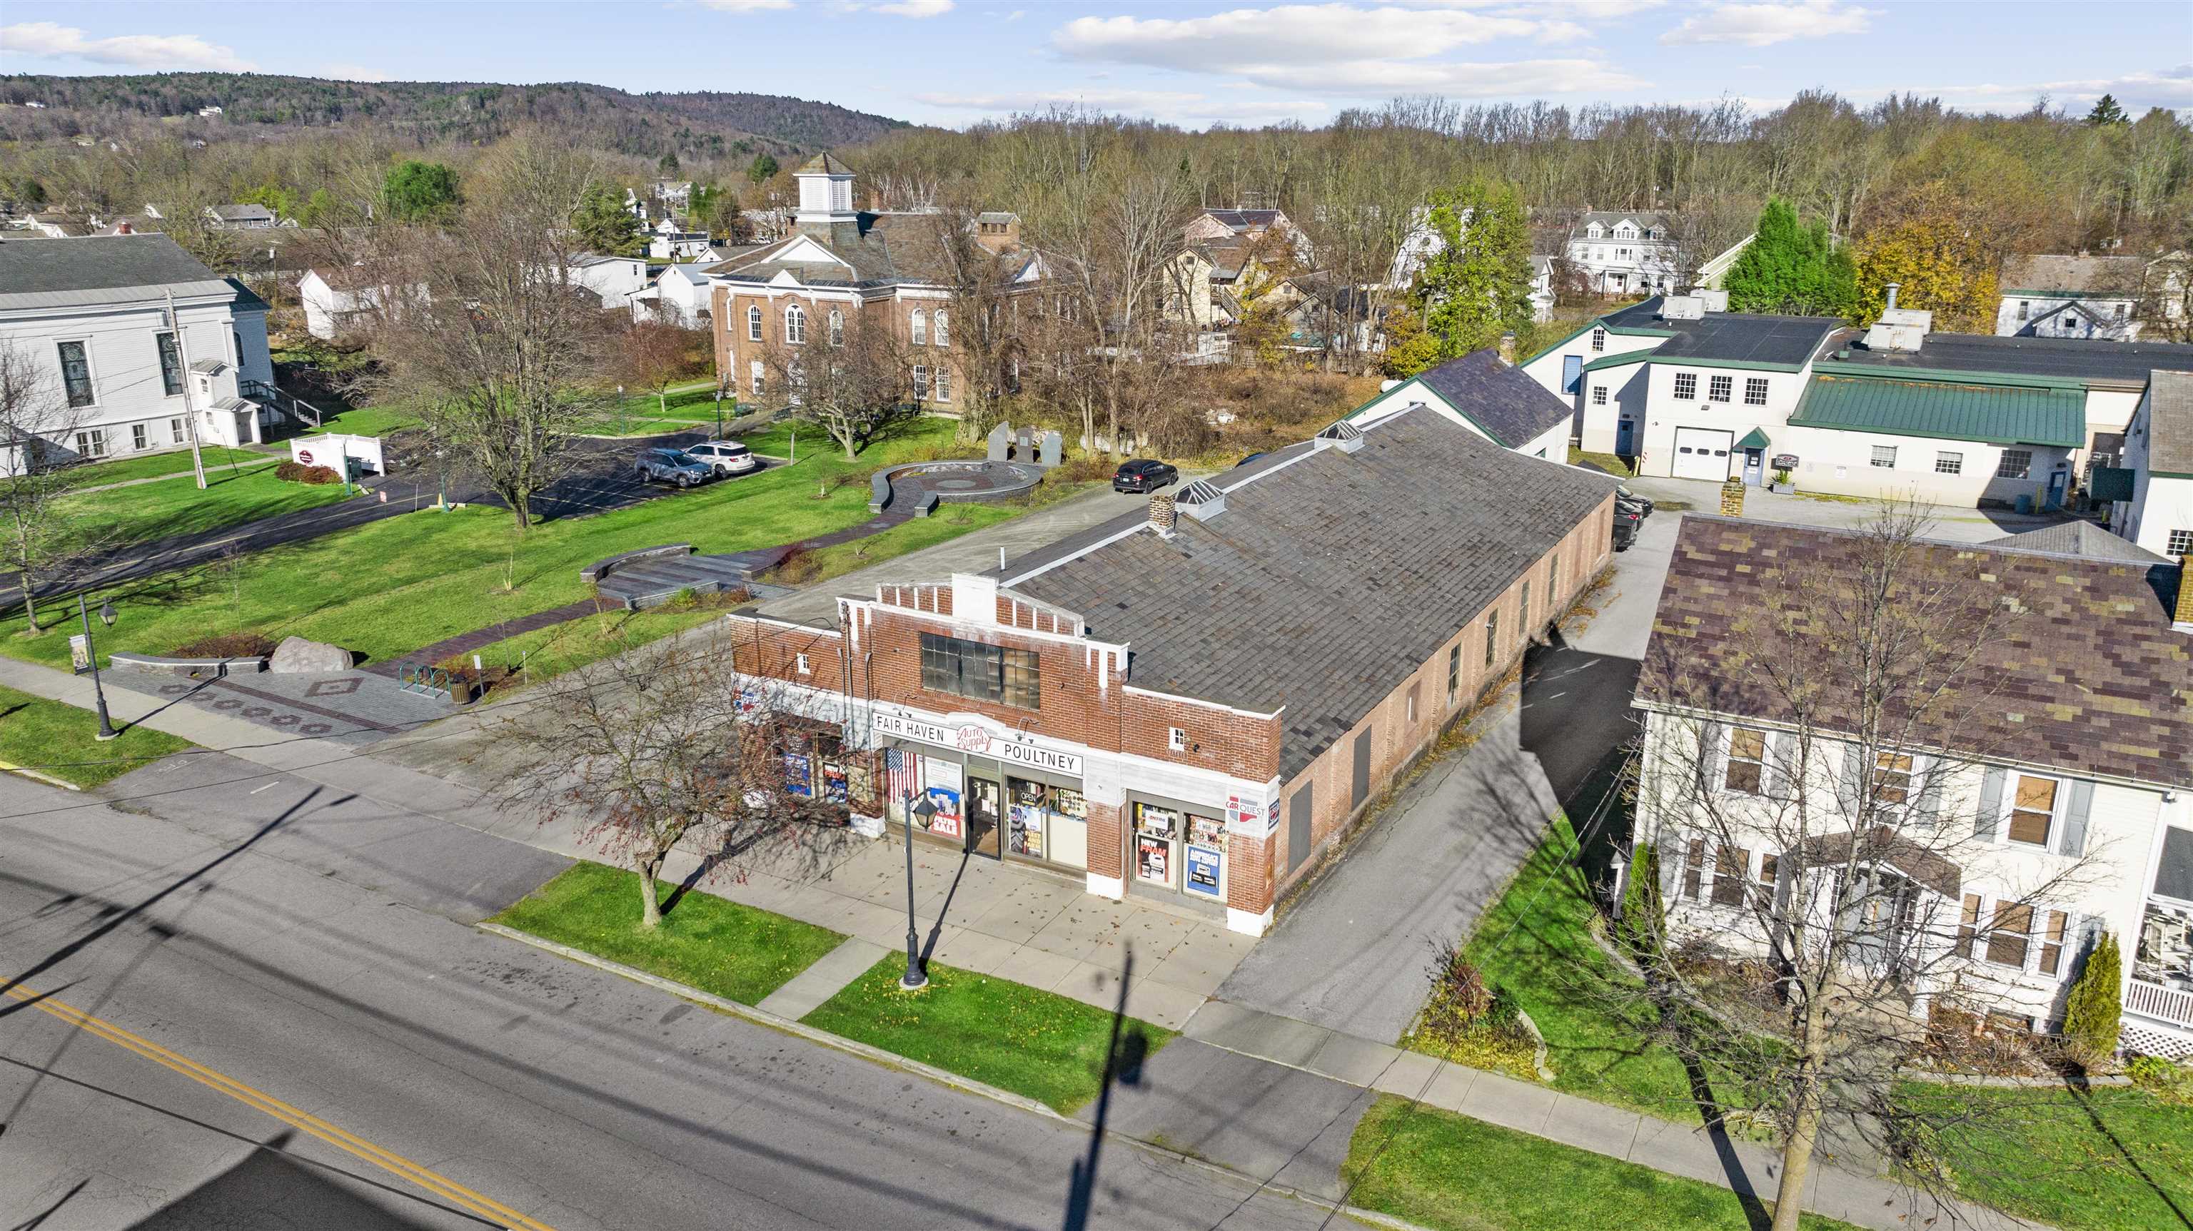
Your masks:
{"label": "pale blue sky with white clouds above the wooded hills", "polygon": [[1189,127],[1320,125],[1393,94],[1774,107],[1825,85],[2018,112],[2114,92],[2193,114],[2193,4],[1899,0],[226,2],[9,0],[4,72],[224,68],[754,90],[967,125],[1088,103]]}

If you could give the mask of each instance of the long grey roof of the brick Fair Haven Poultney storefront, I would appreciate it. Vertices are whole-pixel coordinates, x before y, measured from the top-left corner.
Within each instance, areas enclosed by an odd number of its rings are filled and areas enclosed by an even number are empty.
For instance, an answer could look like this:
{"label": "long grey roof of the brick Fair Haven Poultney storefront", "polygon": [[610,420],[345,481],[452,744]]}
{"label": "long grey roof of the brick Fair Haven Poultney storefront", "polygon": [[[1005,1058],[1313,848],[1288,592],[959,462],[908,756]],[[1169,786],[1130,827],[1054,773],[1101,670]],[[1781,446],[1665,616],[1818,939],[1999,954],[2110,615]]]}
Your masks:
{"label": "long grey roof of the brick Fair Haven Poultney storefront", "polygon": [[993,576],[1127,642],[1138,688],[1285,710],[1283,780],[1614,493],[1430,407],[1364,427],[1353,453],[1294,445],[1213,482],[1224,513],[1182,515],[1171,539],[1134,513]]}

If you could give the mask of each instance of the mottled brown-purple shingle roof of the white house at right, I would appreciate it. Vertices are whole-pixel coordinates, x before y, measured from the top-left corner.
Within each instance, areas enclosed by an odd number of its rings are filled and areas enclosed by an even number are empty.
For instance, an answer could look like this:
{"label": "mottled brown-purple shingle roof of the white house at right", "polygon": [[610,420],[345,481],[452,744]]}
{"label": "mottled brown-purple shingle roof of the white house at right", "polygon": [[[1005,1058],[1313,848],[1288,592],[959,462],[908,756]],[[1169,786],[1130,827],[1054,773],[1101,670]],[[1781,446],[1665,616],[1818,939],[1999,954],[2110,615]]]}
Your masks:
{"label": "mottled brown-purple shingle roof of the white house at right", "polygon": [[[1855,716],[1836,710],[1838,616],[1827,607],[1864,550],[1851,530],[1684,515],[1638,701],[1789,723],[1787,699],[1759,670],[1772,655],[1825,686],[1811,699],[1825,729],[1855,732]],[[1943,686],[1941,712],[1958,716],[1950,751],[2193,786],[2193,635],[2171,631],[2180,570],[1965,543],[1921,543],[1910,561],[1906,578],[1952,578],[1934,596],[1943,626],[1958,620],[1947,609],[1958,591],[1972,611],[2011,611]],[[1774,631],[1785,624],[1800,633]],[[1807,655],[1818,657],[1809,672]]]}

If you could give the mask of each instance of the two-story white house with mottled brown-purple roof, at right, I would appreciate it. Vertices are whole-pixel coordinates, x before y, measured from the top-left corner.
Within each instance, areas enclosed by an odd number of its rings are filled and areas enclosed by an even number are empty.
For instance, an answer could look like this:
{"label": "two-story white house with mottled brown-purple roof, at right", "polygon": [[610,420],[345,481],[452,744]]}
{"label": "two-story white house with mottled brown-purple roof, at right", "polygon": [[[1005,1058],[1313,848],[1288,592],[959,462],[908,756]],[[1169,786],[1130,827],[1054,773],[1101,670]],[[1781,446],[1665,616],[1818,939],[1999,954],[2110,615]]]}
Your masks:
{"label": "two-story white house with mottled brown-purple roof, at right", "polygon": [[[1939,620],[1991,633],[1921,716],[1866,725],[1820,642],[1866,550],[1849,530],[1684,517],[1636,694],[1634,837],[1656,850],[1669,937],[1759,957],[1809,944],[1772,927],[1798,911],[1842,920],[1847,959],[1912,1016],[2055,1029],[2110,933],[2123,1047],[2193,1058],[2186,570],[1919,543],[1899,576],[1939,578],[1917,583],[1939,585]],[[1809,716],[1770,666],[1805,675]]]}

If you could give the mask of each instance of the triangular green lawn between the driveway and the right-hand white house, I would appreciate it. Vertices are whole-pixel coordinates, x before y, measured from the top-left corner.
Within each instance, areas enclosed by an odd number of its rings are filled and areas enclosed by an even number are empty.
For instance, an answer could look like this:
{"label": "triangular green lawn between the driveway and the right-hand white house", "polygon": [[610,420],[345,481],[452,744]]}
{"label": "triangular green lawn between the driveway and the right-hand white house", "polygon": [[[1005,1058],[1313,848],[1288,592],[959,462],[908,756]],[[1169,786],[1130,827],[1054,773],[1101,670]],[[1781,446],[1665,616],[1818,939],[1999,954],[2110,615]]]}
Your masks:
{"label": "triangular green lawn between the driveway and the right-hand white house", "polygon": [[1478,920],[1465,955],[1537,1023],[1555,1089],[1695,1124],[1682,1062],[1647,1040],[1651,1010],[1607,994],[1625,975],[1592,944],[1594,907],[1570,861],[1575,848],[1568,819],[1557,817]]}

